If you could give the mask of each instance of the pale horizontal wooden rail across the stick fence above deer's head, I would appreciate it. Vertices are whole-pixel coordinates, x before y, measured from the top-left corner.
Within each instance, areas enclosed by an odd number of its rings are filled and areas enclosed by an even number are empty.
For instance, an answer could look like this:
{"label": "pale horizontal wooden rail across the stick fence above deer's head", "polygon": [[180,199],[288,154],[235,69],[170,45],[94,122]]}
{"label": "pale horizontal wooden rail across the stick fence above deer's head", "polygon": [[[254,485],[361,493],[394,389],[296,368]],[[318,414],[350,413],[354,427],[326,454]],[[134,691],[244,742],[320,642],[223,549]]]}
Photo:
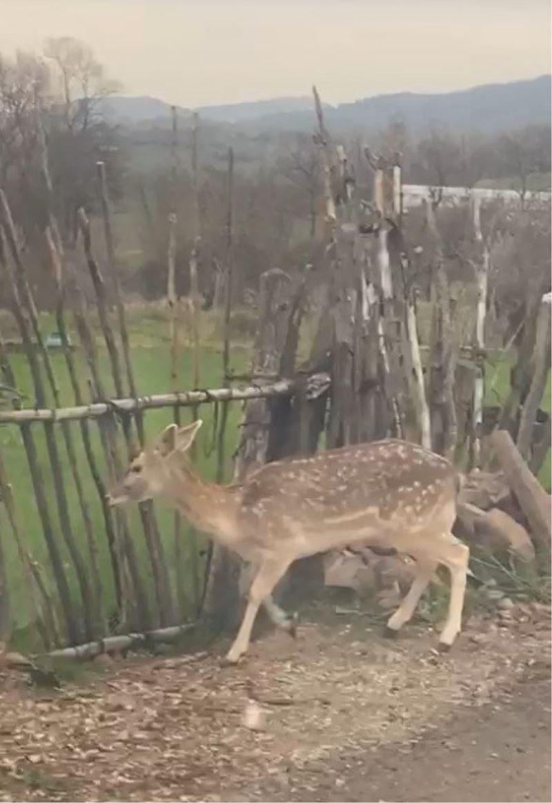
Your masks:
{"label": "pale horizontal wooden rail across the stick fence above deer's head", "polygon": [[294,381],[282,380],[273,385],[248,388],[217,388],[189,390],[181,393],[156,393],[136,398],[110,399],[78,407],[58,407],[43,410],[0,410],[0,424],[23,424],[41,421],[82,421],[84,418],[101,418],[113,413],[132,413],[136,410],[155,410],[161,407],[193,407],[210,402],[241,402],[247,399],[289,396]]}

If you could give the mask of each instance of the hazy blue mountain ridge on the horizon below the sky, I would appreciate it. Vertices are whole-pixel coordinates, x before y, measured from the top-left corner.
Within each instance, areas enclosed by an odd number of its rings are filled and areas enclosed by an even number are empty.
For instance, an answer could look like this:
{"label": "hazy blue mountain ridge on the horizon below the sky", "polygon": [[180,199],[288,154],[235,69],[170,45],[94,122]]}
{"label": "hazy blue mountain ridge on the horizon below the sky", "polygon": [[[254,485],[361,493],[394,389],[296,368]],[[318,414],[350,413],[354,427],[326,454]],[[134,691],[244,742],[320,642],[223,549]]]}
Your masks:
{"label": "hazy blue mountain ridge on the horizon below the sky", "polygon": [[[390,122],[401,122],[415,134],[435,125],[457,132],[495,134],[531,124],[550,124],[551,92],[550,75],[509,84],[484,84],[459,92],[400,92],[326,105],[325,120],[329,128],[339,132],[373,131]],[[113,120],[126,124],[167,119],[170,114],[169,104],[151,97],[114,96],[104,103]],[[190,114],[185,108],[179,107],[178,111],[181,116]],[[250,132],[311,131],[315,124],[310,97],[205,106],[197,111],[204,120],[233,124]]]}

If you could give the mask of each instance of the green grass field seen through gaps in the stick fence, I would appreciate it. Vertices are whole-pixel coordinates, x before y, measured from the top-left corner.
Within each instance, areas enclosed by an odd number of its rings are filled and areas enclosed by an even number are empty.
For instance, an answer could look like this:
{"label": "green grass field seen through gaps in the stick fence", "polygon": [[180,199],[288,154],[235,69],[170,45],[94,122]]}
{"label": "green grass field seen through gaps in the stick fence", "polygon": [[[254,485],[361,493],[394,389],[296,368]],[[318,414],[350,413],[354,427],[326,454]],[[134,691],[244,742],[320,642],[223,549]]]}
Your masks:
{"label": "green grass field seen through gaps in the stick fence", "polygon": [[[42,324],[43,332],[50,332],[55,329],[55,326],[49,316],[43,316]],[[199,384],[201,387],[205,388],[220,387],[222,383],[221,350],[220,346],[216,345],[217,341],[220,342],[220,327],[217,324],[217,320],[209,315],[204,316],[201,326],[201,337],[204,345],[201,349],[201,381]],[[169,381],[170,351],[168,344],[168,324],[166,320],[166,313],[162,308],[148,308],[147,312],[145,312],[144,308],[131,307],[128,309],[128,329],[132,343],[132,365],[135,373],[138,393],[142,395],[148,393],[168,392],[171,388]],[[76,342],[75,336],[73,336],[73,339]],[[235,335],[236,341],[242,340],[242,343],[234,343],[232,349],[231,369],[233,369],[233,371],[236,373],[243,373],[246,370],[249,356],[249,346],[246,342],[247,339],[247,336],[241,336],[240,333]],[[107,392],[114,396],[115,389],[109,368],[108,355],[106,350],[101,346],[102,341],[99,336],[97,338],[97,342],[99,345],[99,361],[103,380]],[[51,359],[59,384],[61,401],[63,404],[71,406],[74,404],[74,399],[71,393],[71,385],[69,383],[69,377],[67,375],[63,354],[52,353]],[[26,406],[32,406],[34,393],[30,380],[30,372],[26,363],[26,357],[24,357],[24,355],[21,353],[13,353],[10,357],[10,361],[12,368],[14,369],[17,387],[22,393],[26,394]],[[86,365],[84,365],[83,357],[80,355],[78,350],[75,351],[75,361],[78,365],[79,373],[81,375],[81,385],[83,388],[85,388],[85,380],[87,375]],[[191,388],[192,385],[190,377],[192,375],[192,352],[187,344],[183,344],[181,349],[180,370],[181,389]],[[497,401],[503,399],[505,394],[508,392],[509,364],[505,361],[494,364],[489,363],[487,366],[486,378],[488,394],[485,402],[489,404],[496,404]],[[543,406],[546,410],[550,410],[550,380],[546,389]],[[144,422],[148,438],[155,437],[162,427],[166,426],[172,420],[172,415],[173,413],[171,410],[147,411],[144,415]],[[228,456],[233,454],[233,450],[237,444],[237,425],[239,423],[240,416],[240,403],[234,402],[230,404],[226,444],[226,454]],[[190,417],[190,410],[182,411],[183,422],[191,420]],[[213,442],[213,406],[202,406],[201,418],[204,419],[205,424],[198,438],[197,468],[205,479],[214,479],[216,465],[214,454],[211,451]],[[90,507],[91,517],[95,529],[95,538],[99,549],[99,565],[103,584],[104,606],[107,613],[111,613],[114,609],[114,589],[112,583],[111,565],[108,556],[108,544],[103,528],[102,511],[97,491],[91,478],[91,473],[84,454],[79,423],[71,422],[70,426],[78,455],[83,484],[86,489],[87,502]],[[100,446],[98,425],[96,422],[91,422],[90,426],[95,456],[107,482],[107,468],[103,460],[103,452]],[[34,432],[34,437],[36,439],[36,444],[40,455],[47,498],[50,500],[52,523],[55,528],[55,532],[60,534],[61,530],[59,527],[57,509],[55,506],[54,487],[51,480],[51,471],[47,462],[47,451],[44,441],[43,426],[35,424],[32,426],[32,430]],[[2,455],[6,464],[8,478],[13,487],[18,522],[24,534],[27,548],[29,549],[34,560],[36,560],[37,563],[42,567],[41,570],[43,572],[43,577],[47,582],[48,588],[53,592],[54,587],[49,569],[47,549],[44,543],[43,532],[34,502],[34,494],[30,483],[26,454],[22,447],[22,440],[18,427],[14,425],[2,426],[0,428],[0,439]],[[67,464],[65,445],[59,431],[57,432],[57,443],[59,447],[59,456],[61,462],[63,463],[65,491],[71,514],[71,527],[75,535],[75,540],[77,540],[79,548],[81,548],[83,551],[83,556],[86,562],[87,552],[84,537],[85,534],[83,532],[83,523],[79,510],[79,503],[73,479]],[[123,446],[122,435],[120,438],[120,444]],[[124,450],[122,450],[121,453],[124,454]],[[550,454],[546,460],[546,465],[542,468],[541,480],[546,487],[550,488]],[[173,573],[173,513],[159,503],[156,504],[156,512],[160,524],[160,532],[165,554],[168,556],[168,565],[172,572],[170,581],[173,585],[173,597],[176,599],[176,593],[174,593],[175,577]],[[135,539],[136,551],[140,558],[140,567],[142,569],[144,581],[148,588],[149,597],[153,601],[154,595],[152,588],[151,568],[144,541],[144,534],[140,526],[140,518],[137,507],[128,507],[128,514],[129,523],[132,528],[132,534]],[[26,596],[27,591],[22,574],[22,567],[19,563],[16,550],[10,543],[6,515],[2,507],[0,507],[0,528],[0,537],[2,537],[3,550],[6,556],[8,569],[10,609],[14,627],[13,640],[14,642],[21,643],[28,638],[28,632],[25,631],[28,630],[27,626],[30,622],[30,608]],[[59,544],[63,543],[61,536],[59,536],[58,542]],[[186,564],[188,568],[191,566],[189,548],[190,540],[185,539],[185,552],[188,550],[188,560]],[[69,567],[68,556],[64,547],[62,551],[63,559],[67,563],[67,574],[70,579],[71,593],[76,600],[79,598],[79,589],[76,585],[74,574]],[[185,591],[187,597],[191,599],[191,589],[193,587],[193,583],[189,573],[187,574],[187,577],[188,587],[185,589]],[[53,596],[55,597],[55,593]],[[191,610],[189,613],[191,613]]]}

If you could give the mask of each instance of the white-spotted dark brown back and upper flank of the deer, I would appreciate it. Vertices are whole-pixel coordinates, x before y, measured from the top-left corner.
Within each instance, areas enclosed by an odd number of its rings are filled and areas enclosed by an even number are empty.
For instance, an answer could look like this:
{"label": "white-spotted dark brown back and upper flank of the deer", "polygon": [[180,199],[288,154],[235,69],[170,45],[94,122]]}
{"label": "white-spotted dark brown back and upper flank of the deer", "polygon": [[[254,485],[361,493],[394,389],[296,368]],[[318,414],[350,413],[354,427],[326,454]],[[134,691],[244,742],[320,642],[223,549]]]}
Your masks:
{"label": "white-spotted dark brown back and upper flank of the deer", "polygon": [[387,439],[268,463],[242,487],[244,524],[278,528],[282,517],[298,527],[331,529],[366,513],[374,523],[422,519],[443,499],[454,499],[457,472],[422,446]]}

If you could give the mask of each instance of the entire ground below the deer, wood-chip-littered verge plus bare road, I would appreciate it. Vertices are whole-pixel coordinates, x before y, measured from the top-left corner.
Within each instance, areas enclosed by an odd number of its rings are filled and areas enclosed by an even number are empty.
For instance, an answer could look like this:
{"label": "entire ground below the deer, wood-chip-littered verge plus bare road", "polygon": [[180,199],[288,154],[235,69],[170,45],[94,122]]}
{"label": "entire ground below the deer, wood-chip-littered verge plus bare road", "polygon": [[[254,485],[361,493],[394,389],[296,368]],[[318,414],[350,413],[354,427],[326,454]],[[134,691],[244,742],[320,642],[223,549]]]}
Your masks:
{"label": "entire ground below the deer, wood-chip-littered verge plus bare road", "polygon": [[[327,612],[326,612],[327,613]],[[311,610],[298,639],[0,675],[0,800],[550,801],[550,609],[410,626]]]}

